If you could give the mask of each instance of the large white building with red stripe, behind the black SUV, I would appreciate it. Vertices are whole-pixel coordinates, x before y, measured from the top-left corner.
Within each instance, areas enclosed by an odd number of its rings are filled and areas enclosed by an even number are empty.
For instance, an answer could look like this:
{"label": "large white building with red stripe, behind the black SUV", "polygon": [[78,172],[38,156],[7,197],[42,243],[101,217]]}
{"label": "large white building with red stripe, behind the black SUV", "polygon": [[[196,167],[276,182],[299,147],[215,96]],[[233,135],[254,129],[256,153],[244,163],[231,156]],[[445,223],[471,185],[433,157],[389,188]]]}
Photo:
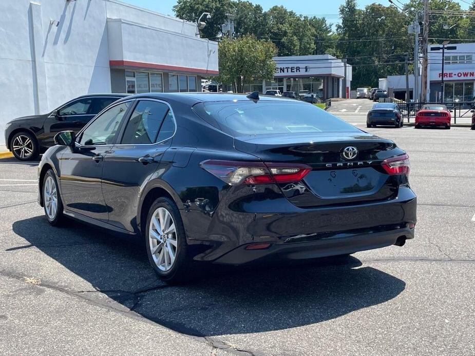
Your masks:
{"label": "large white building with red stripe, behind the black SUV", "polygon": [[0,132],[79,95],[200,91],[218,74],[217,43],[176,17],[117,0],[5,0],[0,11]]}

